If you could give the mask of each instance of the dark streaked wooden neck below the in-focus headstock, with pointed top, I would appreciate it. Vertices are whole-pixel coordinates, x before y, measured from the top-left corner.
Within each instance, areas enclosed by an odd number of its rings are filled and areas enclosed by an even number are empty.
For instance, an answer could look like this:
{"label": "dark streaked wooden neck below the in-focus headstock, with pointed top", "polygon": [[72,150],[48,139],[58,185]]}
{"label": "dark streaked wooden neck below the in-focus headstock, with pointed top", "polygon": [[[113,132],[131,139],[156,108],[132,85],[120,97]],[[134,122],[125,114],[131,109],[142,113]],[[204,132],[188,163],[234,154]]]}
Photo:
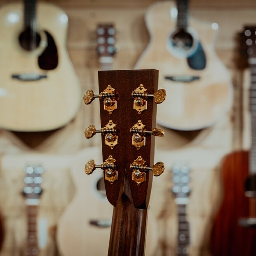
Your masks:
{"label": "dark streaked wooden neck below the in-focus headstock, with pointed top", "polygon": [[125,176],[124,191],[114,207],[108,255],[143,256],[147,209],[137,209],[133,205],[131,190]]}

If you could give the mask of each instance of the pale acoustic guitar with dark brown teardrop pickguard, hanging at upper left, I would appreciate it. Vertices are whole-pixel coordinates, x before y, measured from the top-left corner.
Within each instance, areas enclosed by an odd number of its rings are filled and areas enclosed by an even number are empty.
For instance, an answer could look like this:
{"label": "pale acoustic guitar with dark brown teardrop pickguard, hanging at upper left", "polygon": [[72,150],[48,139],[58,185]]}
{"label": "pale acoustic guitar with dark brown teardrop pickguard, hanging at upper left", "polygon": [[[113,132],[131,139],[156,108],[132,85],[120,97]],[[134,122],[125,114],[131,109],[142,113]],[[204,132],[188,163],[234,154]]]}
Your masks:
{"label": "pale acoustic guitar with dark brown teardrop pickguard, hanging at upper left", "polygon": [[66,49],[67,24],[50,3],[0,9],[0,128],[54,130],[76,116],[81,88]]}

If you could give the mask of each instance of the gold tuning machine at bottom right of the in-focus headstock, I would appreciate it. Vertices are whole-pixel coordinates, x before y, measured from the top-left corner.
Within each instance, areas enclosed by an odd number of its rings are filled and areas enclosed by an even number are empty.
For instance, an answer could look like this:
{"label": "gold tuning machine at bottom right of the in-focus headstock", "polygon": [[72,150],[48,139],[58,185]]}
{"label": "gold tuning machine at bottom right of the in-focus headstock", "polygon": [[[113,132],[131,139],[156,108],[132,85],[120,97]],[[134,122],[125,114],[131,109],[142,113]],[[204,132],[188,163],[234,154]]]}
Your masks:
{"label": "gold tuning machine at bottom right of the in-focus headstock", "polygon": [[152,167],[145,165],[145,161],[141,156],[130,165],[132,171],[132,180],[140,185],[142,182],[146,181],[146,171],[152,170],[154,176],[159,176],[164,172],[164,163],[157,162]]}

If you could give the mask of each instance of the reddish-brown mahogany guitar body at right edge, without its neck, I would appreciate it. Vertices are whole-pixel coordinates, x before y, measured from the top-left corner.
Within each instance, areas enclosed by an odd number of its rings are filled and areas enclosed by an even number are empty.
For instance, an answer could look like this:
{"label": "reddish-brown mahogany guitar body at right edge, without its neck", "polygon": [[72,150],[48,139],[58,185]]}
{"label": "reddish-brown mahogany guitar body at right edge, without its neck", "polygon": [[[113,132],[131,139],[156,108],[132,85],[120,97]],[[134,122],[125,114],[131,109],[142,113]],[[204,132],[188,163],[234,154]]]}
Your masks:
{"label": "reddish-brown mahogany guitar body at right edge, without its neck", "polygon": [[212,255],[256,255],[256,229],[239,226],[248,217],[249,199],[244,195],[248,177],[248,152],[238,151],[225,157],[221,169],[223,201],[214,220],[210,247]]}

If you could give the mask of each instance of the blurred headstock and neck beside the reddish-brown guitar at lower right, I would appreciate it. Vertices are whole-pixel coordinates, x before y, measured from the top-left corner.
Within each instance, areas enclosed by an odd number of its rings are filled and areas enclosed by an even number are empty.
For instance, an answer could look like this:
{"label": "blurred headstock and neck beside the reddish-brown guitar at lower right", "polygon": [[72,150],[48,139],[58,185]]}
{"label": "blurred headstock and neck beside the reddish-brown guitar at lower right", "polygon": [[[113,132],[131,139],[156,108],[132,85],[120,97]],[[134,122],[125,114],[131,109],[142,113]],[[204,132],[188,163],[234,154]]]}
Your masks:
{"label": "blurred headstock and neck beside the reddish-brown guitar at lower right", "polygon": [[175,164],[172,168],[173,172],[173,194],[175,195],[175,203],[178,211],[178,243],[176,247],[176,255],[189,255],[189,222],[187,221],[187,204],[189,203],[190,188],[189,183],[190,168],[187,164]]}

